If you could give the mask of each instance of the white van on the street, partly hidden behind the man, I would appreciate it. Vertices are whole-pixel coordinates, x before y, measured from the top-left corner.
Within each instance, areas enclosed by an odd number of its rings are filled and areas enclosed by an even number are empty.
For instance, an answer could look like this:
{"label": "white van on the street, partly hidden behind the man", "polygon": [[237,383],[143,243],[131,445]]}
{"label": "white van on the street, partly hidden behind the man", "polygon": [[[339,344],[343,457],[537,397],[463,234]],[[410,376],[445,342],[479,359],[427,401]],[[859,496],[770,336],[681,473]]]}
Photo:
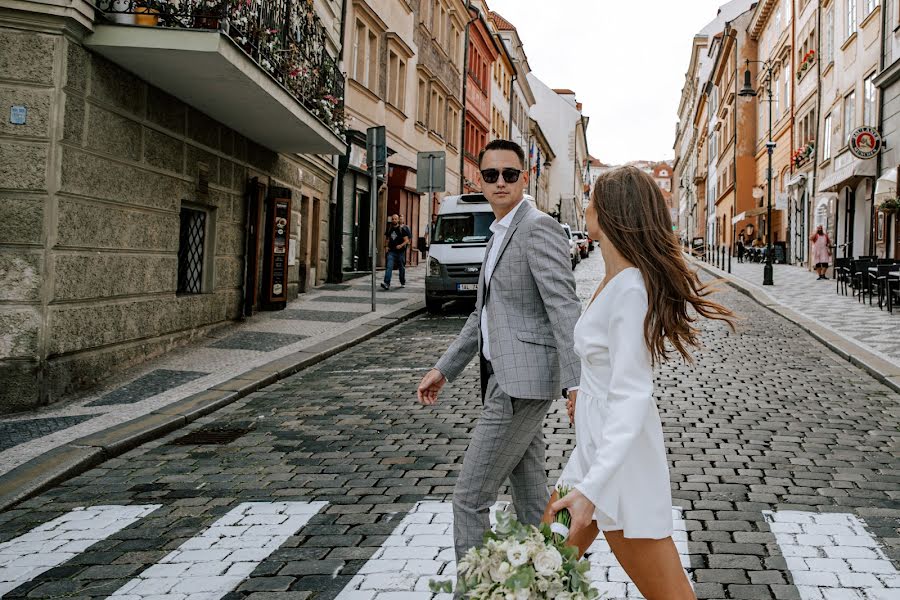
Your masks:
{"label": "white van on the street, partly hidden behind the man", "polygon": [[[527,194],[525,200],[534,203]],[[475,298],[493,222],[494,212],[484,194],[447,196],[441,201],[425,275],[429,312],[439,312],[448,300]]]}

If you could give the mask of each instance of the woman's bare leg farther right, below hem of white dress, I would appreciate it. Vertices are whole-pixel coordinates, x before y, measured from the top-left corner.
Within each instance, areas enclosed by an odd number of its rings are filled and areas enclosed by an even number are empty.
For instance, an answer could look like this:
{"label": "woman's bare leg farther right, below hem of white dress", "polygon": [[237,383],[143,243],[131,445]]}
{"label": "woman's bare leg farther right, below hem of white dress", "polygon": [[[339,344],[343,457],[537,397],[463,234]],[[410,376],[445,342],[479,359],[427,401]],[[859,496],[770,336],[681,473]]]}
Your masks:
{"label": "woman's bare leg farther right, below hem of white dress", "polygon": [[626,538],[604,531],[616,560],[647,600],[696,600],[672,538]]}

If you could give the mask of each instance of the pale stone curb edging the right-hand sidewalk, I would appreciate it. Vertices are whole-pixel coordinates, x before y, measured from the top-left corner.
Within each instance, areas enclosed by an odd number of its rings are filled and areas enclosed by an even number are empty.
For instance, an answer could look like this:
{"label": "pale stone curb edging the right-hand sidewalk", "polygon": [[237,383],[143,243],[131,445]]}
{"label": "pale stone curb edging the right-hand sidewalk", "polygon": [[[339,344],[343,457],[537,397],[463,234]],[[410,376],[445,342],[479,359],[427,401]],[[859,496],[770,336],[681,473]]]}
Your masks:
{"label": "pale stone curb edging the right-hand sidewalk", "polygon": [[702,269],[706,273],[709,273],[716,279],[724,281],[735,290],[754,300],[760,306],[769,309],[773,313],[797,325],[800,329],[824,344],[826,348],[844,360],[868,372],[872,377],[891,388],[893,391],[900,392],[900,366],[881,358],[853,340],[842,336],[828,327],[824,327],[809,317],[805,317],[795,310],[788,308],[768,294],[749,287],[740,278],[721,271],[718,268],[708,265],[687,254],[684,254],[684,256],[689,263]]}

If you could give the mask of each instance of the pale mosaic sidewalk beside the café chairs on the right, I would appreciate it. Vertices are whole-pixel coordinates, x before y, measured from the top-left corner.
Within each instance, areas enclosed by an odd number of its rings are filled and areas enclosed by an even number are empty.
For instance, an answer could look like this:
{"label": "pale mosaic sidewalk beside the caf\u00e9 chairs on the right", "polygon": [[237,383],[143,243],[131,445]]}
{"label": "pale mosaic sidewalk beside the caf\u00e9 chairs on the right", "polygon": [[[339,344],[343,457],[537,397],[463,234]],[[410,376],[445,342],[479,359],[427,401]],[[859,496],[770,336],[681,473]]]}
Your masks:
{"label": "pale mosaic sidewalk beside the caf\u00e9 chairs on the right", "polygon": [[763,265],[732,260],[731,271],[773,300],[900,365],[900,310],[878,309],[878,299],[863,303],[836,293],[833,279],[816,280],[803,267],[774,265],[773,286],[762,285]]}

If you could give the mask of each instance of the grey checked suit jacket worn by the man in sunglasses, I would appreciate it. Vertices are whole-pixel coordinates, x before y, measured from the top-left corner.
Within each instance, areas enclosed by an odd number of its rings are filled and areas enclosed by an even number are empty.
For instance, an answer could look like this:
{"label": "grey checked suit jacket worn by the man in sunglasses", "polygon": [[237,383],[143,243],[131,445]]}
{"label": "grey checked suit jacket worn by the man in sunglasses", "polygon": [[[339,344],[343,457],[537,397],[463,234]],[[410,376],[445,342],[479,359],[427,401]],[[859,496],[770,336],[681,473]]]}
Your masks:
{"label": "grey checked suit jacket worn by the man in sunglasses", "polygon": [[573,335],[581,302],[575,294],[568,244],[553,218],[528,202],[519,207],[491,281],[485,284],[482,268],[475,311],[435,366],[448,381],[480,354],[484,309],[491,366],[501,390],[513,398],[552,400],[563,388],[578,385],[581,363]]}

